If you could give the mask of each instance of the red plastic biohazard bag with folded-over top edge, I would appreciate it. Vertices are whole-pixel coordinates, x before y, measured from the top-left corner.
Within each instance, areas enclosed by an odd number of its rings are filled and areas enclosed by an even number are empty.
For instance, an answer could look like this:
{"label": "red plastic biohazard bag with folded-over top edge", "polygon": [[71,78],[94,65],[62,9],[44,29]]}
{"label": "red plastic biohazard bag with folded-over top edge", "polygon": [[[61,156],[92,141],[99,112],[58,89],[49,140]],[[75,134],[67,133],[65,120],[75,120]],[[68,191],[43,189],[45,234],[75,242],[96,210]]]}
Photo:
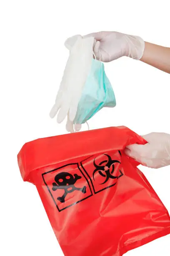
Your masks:
{"label": "red plastic biohazard bag with folded-over top edge", "polygon": [[18,154],[66,256],[121,256],[170,233],[168,211],[123,154],[133,143],[146,141],[125,127],[104,128],[40,138]]}

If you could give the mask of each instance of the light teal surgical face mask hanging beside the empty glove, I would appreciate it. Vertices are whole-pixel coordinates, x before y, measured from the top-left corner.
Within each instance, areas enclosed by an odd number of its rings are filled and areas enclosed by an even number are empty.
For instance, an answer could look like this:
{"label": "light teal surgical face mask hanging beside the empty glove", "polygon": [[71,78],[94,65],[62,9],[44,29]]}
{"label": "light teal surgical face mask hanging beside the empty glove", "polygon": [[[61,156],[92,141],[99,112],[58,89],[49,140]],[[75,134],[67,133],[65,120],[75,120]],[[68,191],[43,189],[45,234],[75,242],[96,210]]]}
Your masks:
{"label": "light teal surgical face mask hanging beside the empty glove", "polygon": [[85,123],[103,107],[113,108],[115,105],[115,94],[105,74],[104,64],[93,59],[90,74],[78,103],[74,123]]}

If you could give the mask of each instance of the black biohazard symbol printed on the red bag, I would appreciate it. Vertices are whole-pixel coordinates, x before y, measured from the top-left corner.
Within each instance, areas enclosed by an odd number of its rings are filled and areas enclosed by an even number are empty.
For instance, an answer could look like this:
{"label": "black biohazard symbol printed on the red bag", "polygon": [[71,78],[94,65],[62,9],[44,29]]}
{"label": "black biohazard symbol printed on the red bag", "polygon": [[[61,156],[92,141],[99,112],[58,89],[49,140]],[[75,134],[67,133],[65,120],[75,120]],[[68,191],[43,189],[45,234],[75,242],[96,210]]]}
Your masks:
{"label": "black biohazard symbol printed on the red bag", "polygon": [[[120,151],[119,151],[119,154],[121,155]],[[93,164],[96,167],[96,169],[93,172],[93,179],[95,180],[96,172],[98,172],[102,177],[106,178],[105,181],[100,184],[105,184],[108,181],[108,179],[118,179],[119,177],[121,177],[123,175],[121,170],[119,170],[120,176],[117,177],[117,176],[112,175],[115,170],[114,164],[115,163],[120,164],[120,161],[112,160],[111,157],[107,154],[104,154],[104,155],[107,156],[107,159],[101,161],[99,164],[96,164],[96,162],[95,162],[96,159],[94,159],[94,161],[93,161]]]}

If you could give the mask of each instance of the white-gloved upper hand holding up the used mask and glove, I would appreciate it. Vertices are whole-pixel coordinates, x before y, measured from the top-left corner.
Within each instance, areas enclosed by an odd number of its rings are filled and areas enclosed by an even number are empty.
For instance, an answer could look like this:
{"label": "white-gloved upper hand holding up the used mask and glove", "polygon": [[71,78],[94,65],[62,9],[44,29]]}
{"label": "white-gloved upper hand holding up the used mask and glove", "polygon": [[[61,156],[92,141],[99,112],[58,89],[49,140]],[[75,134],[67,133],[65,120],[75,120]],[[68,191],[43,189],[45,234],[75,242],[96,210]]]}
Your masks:
{"label": "white-gloved upper hand holding up the used mask and glove", "polygon": [[139,36],[130,36],[118,32],[102,31],[91,33],[85,37],[95,38],[94,53],[101,61],[109,62],[122,56],[140,60],[145,49],[145,42]]}

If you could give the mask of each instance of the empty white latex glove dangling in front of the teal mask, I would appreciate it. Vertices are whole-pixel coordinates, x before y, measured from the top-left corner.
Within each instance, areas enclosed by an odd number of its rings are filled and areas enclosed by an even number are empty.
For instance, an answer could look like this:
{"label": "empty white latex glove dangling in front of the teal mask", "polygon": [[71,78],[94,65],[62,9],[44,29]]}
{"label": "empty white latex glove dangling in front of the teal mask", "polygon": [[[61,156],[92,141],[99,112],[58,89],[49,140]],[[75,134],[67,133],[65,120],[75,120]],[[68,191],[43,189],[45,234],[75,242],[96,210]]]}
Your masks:
{"label": "empty white latex glove dangling in front of the teal mask", "polygon": [[70,49],[70,56],[57,93],[55,105],[50,112],[51,118],[54,118],[58,112],[58,123],[61,123],[68,113],[70,121],[75,118],[82,89],[90,72],[93,44],[93,37],[82,38],[81,36],[74,36],[65,42],[65,46]]}

